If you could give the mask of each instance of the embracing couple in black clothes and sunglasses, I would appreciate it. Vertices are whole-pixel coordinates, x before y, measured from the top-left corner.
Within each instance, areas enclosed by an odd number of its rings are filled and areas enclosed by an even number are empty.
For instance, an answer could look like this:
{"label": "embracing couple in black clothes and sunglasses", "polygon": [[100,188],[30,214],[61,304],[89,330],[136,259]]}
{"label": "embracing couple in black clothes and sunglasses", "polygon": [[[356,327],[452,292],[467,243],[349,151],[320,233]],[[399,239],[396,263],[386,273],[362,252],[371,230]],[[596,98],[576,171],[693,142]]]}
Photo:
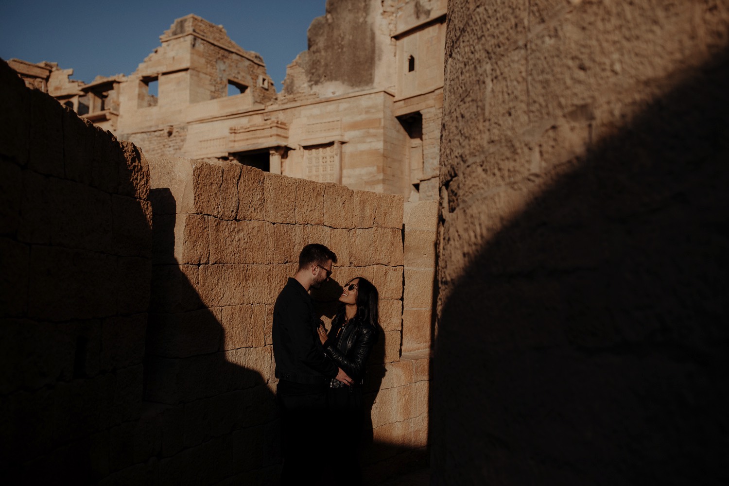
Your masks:
{"label": "embracing couple in black clothes and sunglasses", "polygon": [[332,485],[361,482],[357,448],[364,412],[362,380],[377,340],[379,298],[366,279],[348,281],[327,333],[308,291],[329,280],[336,262],[326,246],[305,246],[296,275],[273,307],[282,485],[302,479]]}

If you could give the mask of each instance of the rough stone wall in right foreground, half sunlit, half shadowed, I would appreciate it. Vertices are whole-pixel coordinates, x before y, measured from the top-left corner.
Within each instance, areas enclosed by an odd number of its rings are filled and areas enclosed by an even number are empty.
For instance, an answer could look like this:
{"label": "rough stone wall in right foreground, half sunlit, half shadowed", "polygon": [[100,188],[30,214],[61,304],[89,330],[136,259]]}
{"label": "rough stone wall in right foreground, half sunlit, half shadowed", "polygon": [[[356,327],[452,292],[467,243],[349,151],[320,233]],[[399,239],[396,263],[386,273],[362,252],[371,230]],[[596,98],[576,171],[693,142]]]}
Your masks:
{"label": "rough stone wall in right foreground, half sunlit, half shadowed", "polygon": [[729,4],[449,2],[434,484],[720,484]]}

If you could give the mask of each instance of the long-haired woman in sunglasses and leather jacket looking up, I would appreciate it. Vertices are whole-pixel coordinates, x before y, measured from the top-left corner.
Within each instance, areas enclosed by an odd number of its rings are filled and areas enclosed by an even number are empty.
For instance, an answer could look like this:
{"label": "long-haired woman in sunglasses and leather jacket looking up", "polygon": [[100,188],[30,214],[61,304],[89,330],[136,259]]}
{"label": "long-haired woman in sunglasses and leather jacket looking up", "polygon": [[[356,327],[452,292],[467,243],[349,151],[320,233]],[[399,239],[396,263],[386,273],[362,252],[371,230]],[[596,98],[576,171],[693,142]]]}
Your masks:
{"label": "long-haired woman in sunglasses and leather jacket looking up", "polygon": [[356,485],[361,481],[356,447],[362,431],[362,382],[367,357],[377,341],[380,297],[370,281],[357,277],[346,283],[339,301],[344,307],[332,319],[329,335],[319,326],[319,339],[327,356],[354,381],[347,386],[332,380],[327,406],[337,447],[354,452],[346,460],[335,461],[333,465],[340,469],[332,471],[334,482]]}

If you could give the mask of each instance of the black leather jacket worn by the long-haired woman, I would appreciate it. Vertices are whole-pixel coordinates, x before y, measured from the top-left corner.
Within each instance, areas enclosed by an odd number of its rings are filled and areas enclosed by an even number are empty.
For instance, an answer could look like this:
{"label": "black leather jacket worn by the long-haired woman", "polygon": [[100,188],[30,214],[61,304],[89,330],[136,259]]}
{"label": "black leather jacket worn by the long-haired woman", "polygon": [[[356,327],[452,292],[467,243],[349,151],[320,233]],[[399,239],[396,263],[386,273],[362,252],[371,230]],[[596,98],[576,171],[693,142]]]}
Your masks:
{"label": "black leather jacket worn by the long-haired woman", "polygon": [[[338,328],[332,326],[327,342],[324,342],[324,352],[354,380],[354,385],[362,385],[367,358],[377,342],[377,330],[372,326],[350,322],[337,336]],[[332,380],[332,387],[340,386],[346,385]]]}

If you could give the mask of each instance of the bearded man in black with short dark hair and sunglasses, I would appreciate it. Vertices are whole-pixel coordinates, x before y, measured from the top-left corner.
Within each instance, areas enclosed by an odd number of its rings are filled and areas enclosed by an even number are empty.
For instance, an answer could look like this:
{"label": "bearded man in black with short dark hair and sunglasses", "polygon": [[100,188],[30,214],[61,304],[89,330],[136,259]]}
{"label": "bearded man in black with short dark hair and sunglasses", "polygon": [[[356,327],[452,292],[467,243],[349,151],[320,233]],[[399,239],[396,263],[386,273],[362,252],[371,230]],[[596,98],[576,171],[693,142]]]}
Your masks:
{"label": "bearded man in black with short dark hair and sunglasses", "polygon": [[324,354],[316,329],[309,289],[318,289],[332,275],[337,256],[324,245],[307,245],[299,255],[299,267],[281,290],[273,307],[273,358],[276,361],[276,400],[281,410],[284,469],[281,484],[299,484],[303,477],[319,477],[316,458],[324,443],[321,420],[326,409],[327,388],[336,378],[352,380]]}

